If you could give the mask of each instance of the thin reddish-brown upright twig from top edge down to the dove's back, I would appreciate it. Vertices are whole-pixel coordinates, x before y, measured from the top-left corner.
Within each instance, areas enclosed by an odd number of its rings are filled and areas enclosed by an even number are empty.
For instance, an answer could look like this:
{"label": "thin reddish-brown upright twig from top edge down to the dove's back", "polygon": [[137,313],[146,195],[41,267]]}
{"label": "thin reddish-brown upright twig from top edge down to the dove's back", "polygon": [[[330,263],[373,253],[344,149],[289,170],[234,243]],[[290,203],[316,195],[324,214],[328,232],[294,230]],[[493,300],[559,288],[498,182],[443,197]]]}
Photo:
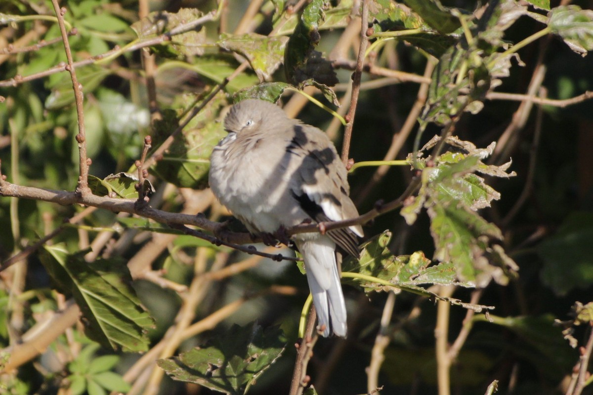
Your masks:
{"label": "thin reddish-brown upright twig from top edge down to the dove's back", "polygon": [[342,162],[347,166],[348,155],[350,152],[350,140],[352,140],[352,128],[354,127],[354,117],[356,115],[356,105],[358,105],[358,95],[361,91],[362,65],[365,60],[366,43],[368,36],[366,30],[369,20],[369,0],[362,2],[361,15],[361,45],[358,48],[358,59],[356,60],[356,69],[352,75],[352,97],[350,99],[350,108],[346,114],[346,128],[344,129],[344,140],[342,143]]}

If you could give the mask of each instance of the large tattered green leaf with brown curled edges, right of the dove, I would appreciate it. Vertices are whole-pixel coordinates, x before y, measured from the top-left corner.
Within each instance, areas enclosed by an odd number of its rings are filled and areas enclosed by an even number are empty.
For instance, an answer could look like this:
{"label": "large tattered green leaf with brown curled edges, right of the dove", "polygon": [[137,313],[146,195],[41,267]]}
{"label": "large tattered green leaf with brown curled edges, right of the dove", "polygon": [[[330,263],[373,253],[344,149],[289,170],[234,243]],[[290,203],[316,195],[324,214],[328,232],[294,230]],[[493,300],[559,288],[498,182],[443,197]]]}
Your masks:
{"label": "large tattered green leaf with brown curled edges, right of the dove", "polygon": [[491,176],[508,178],[510,165],[485,165],[482,160],[492,154],[495,145],[479,149],[470,142],[448,137],[444,148],[430,166],[423,158],[425,152],[440,142],[431,139],[408,160],[422,169],[420,190],[401,209],[401,215],[412,224],[422,208],[431,219],[431,234],[435,242],[434,258],[454,265],[461,282],[483,287],[490,280],[506,284],[517,265],[503,249],[493,242],[502,239],[500,229],[489,223],[477,210],[490,207],[500,194],[474,174],[482,172]]}

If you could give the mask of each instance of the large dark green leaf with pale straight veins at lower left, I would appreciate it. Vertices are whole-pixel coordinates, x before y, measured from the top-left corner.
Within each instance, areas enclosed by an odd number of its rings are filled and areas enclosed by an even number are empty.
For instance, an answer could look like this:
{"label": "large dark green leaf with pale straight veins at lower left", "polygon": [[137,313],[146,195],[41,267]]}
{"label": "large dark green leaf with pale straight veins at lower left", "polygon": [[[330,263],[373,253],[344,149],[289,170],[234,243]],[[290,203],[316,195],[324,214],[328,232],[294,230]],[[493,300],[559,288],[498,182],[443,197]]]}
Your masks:
{"label": "large dark green leaf with pale straight veins at lower left", "polygon": [[86,251],[72,255],[62,244],[44,248],[43,265],[62,292],[74,296],[91,339],[125,351],[148,349],[146,331],[153,321],[130,285],[125,262],[86,262]]}

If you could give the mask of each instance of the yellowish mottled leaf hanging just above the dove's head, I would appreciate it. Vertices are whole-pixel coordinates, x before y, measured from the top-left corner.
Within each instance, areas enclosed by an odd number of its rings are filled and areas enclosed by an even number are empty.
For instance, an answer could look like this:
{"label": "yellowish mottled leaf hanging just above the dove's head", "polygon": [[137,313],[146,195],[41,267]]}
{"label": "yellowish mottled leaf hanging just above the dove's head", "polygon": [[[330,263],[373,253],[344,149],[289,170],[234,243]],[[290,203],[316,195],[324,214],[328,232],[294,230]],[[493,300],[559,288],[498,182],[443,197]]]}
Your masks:
{"label": "yellowish mottled leaf hanging just above the dove's head", "polygon": [[217,44],[244,56],[259,78],[262,81],[269,81],[272,78],[272,73],[282,63],[287,41],[286,37],[267,37],[256,33],[246,33],[240,36],[222,34]]}

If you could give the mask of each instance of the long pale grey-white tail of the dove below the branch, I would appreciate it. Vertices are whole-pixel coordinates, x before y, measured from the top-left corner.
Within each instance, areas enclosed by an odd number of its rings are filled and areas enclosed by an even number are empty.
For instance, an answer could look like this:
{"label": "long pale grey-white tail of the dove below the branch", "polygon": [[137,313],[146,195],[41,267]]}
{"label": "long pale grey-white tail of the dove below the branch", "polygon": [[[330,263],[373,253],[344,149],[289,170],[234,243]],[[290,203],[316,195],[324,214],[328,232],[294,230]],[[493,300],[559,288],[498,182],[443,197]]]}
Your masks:
{"label": "long pale grey-white tail of the dove below the branch", "polygon": [[333,333],[346,337],[346,304],[336,265],[336,244],[327,236],[297,240],[305,261],[307,281],[317,310],[323,336]]}

